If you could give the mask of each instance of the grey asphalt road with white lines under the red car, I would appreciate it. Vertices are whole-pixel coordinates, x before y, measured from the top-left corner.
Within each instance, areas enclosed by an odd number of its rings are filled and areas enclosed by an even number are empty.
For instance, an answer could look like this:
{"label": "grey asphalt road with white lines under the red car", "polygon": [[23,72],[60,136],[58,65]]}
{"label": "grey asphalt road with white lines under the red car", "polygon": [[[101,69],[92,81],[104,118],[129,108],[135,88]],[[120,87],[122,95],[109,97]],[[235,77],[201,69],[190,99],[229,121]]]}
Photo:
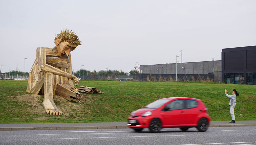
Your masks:
{"label": "grey asphalt road with white lines under the red car", "polygon": [[167,128],[160,133],[150,133],[148,129],[142,132],[132,129],[0,131],[0,144],[256,145],[256,126],[210,127],[206,132],[198,132],[196,128],[186,132]]}

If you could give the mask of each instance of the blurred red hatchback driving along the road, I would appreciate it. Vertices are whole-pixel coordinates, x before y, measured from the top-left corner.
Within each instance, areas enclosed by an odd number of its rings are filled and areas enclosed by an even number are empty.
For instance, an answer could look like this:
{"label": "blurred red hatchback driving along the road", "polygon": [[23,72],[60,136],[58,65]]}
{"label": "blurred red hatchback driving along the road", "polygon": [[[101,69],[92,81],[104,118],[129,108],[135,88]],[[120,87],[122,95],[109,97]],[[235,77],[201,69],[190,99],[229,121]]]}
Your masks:
{"label": "blurred red hatchback driving along the road", "polygon": [[186,131],[196,127],[206,131],[210,124],[207,108],[199,99],[172,97],[156,100],[146,107],[133,111],[128,118],[127,126],[135,131],[149,128],[153,133],[161,128],[179,127]]}

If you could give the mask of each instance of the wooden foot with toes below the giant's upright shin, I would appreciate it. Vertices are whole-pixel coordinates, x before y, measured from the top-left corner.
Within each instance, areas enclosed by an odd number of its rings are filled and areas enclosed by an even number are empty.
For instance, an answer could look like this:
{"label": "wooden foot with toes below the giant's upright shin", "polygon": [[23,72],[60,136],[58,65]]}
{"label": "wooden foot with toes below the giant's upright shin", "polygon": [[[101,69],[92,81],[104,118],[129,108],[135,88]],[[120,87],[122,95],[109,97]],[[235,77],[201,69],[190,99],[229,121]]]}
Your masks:
{"label": "wooden foot with toes below the giant's upright shin", "polygon": [[62,112],[57,108],[52,99],[47,99],[43,101],[43,106],[47,114],[50,115],[61,115]]}

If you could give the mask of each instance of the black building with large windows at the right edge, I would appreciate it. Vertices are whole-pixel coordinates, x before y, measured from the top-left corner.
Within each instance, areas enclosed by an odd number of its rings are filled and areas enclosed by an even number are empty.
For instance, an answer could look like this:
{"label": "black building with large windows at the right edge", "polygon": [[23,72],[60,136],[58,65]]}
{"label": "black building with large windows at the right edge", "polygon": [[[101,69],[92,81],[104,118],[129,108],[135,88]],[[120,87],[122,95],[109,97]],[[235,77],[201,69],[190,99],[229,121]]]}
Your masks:
{"label": "black building with large windows at the right edge", "polygon": [[256,46],[222,49],[222,82],[256,85]]}

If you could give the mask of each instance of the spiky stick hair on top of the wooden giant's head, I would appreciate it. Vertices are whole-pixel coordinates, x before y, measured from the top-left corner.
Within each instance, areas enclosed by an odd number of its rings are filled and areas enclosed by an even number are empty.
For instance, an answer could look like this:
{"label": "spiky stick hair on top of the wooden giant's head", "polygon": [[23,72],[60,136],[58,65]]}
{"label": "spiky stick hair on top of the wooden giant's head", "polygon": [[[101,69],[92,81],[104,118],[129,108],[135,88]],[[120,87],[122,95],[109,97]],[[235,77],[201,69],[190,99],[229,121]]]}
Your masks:
{"label": "spiky stick hair on top of the wooden giant's head", "polygon": [[63,41],[66,41],[72,45],[76,45],[76,46],[82,45],[81,41],[79,41],[78,36],[76,35],[75,32],[72,32],[72,30],[71,31],[67,29],[62,30],[60,34],[58,34],[57,36],[61,38],[60,43]]}

